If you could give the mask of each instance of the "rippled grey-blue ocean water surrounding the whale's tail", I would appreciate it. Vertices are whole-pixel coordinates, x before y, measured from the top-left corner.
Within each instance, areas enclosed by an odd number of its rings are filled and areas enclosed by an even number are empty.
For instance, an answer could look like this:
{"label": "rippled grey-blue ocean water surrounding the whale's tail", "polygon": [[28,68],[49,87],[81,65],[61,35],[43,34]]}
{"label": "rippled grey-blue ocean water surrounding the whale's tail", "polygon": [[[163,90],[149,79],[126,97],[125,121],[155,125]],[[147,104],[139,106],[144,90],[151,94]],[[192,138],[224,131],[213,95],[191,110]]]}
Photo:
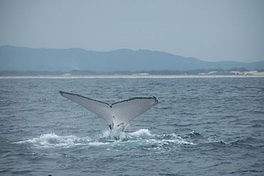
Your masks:
{"label": "rippled grey-blue ocean water surrounding the whale's tail", "polygon": [[[59,90],[159,103],[113,134]],[[264,78],[1,78],[0,120],[0,175],[264,175]]]}

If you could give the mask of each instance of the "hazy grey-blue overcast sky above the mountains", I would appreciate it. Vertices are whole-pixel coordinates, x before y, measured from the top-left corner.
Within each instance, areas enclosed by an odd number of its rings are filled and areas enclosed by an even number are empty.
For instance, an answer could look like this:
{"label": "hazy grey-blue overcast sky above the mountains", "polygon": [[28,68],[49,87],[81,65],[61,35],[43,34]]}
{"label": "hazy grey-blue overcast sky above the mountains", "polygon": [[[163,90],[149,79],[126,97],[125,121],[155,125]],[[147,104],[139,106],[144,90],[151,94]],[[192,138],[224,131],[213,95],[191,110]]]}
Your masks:
{"label": "hazy grey-blue overcast sky above the mountains", "polygon": [[0,46],[264,60],[264,0],[0,0]]}

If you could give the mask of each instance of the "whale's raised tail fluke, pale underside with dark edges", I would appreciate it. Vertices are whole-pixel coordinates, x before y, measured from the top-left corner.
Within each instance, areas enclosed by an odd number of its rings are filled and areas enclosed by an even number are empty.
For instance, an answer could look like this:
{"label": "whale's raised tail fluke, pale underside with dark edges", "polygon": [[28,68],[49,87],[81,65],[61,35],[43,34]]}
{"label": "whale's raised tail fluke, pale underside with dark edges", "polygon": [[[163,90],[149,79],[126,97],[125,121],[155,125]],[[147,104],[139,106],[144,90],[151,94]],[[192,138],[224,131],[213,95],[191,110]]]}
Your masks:
{"label": "whale's raised tail fluke, pale underside with dark edges", "polygon": [[59,93],[106,120],[110,130],[128,124],[130,120],[143,114],[158,103],[158,98],[153,96],[131,98],[110,105],[75,93],[63,91],[59,91]]}

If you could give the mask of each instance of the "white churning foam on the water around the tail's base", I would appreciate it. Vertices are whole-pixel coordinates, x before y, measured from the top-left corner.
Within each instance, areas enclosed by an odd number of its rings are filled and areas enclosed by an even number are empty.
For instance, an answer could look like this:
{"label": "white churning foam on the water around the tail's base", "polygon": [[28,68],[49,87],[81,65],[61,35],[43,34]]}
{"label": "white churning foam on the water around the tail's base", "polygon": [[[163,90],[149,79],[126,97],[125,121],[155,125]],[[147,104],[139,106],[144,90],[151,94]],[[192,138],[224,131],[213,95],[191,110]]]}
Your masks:
{"label": "white churning foam on the water around the tail's base", "polygon": [[[35,147],[73,147],[76,145],[85,146],[124,146],[128,148],[134,147],[162,147],[163,145],[194,145],[181,136],[176,134],[170,135],[153,135],[148,129],[140,129],[132,133],[123,131],[103,131],[96,139],[77,138],[74,135],[59,136],[54,133],[44,134],[39,138],[29,140],[21,140],[16,144],[31,144]],[[108,148],[109,149],[109,148]]]}

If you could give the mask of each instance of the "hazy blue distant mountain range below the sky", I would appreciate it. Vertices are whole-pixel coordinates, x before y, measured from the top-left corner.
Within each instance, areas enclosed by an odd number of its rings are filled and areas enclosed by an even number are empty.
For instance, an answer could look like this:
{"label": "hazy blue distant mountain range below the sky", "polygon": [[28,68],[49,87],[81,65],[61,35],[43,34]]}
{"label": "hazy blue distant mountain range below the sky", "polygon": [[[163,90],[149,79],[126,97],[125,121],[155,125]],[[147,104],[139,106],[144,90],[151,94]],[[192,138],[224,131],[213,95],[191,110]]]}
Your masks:
{"label": "hazy blue distant mountain range below the sky", "polygon": [[160,51],[119,49],[86,51],[81,48],[48,49],[0,46],[0,71],[187,71],[196,69],[263,69],[264,61],[208,62]]}

